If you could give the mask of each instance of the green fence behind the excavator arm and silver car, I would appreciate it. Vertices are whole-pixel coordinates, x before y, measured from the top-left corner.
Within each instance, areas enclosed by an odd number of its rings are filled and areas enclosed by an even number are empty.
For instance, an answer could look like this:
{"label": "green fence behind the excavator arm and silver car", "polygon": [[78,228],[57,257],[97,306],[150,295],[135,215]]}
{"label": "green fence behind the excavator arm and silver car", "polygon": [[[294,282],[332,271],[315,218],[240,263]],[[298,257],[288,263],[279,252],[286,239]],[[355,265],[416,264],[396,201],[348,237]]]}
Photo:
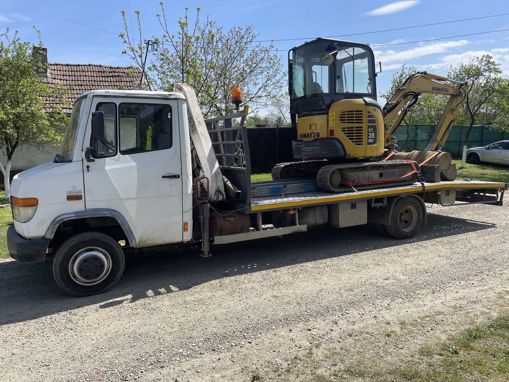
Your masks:
{"label": "green fence behind the excavator arm and silver car", "polygon": [[[410,125],[399,126],[394,132],[394,136],[398,139],[398,146],[401,150],[426,150],[428,142],[431,139],[435,125]],[[463,138],[467,132],[468,126],[455,125],[450,131],[447,142],[443,148],[444,151],[450,153],[453,158],[460,158],[463,152]],[[493,142],[509,140],[509,133],[502,131],[490,130],[490,126],[478,125],[473,126],[468,137],[467,147],[485,146]]]}

